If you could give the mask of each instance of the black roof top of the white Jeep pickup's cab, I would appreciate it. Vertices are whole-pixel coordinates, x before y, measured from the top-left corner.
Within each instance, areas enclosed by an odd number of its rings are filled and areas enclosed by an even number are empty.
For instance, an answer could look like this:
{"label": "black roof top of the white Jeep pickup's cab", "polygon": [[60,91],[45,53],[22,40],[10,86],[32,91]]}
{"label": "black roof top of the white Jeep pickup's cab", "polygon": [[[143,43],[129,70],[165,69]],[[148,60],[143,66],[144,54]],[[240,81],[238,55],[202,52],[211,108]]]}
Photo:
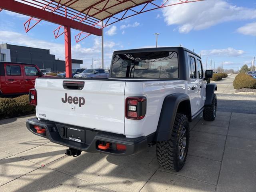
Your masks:
{"label": "black roof top of the white Jeep pickup's cab", "polygon": [[154,48],[128,49],[128,50],[114,51],[114,54],[136,53],[136,52],[159,52],[159,51],[176,51],[176,52],[186,51],[201,58],[198,54],[184,47],[158,47],[158,48],[154,47]]}

